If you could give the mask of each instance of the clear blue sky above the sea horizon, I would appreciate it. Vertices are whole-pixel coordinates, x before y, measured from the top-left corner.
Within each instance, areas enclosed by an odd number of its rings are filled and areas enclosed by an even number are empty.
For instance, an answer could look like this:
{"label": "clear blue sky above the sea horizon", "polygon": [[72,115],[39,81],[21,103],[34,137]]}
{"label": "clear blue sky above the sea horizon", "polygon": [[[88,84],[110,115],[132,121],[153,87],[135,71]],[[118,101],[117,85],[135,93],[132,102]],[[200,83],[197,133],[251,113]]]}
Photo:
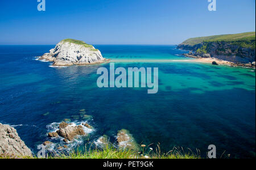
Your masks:
{"label": "clear blue sky above the sea horizon", "polygon": [[0,0],[0,44],[179,44],[255,31],[255,0]]}

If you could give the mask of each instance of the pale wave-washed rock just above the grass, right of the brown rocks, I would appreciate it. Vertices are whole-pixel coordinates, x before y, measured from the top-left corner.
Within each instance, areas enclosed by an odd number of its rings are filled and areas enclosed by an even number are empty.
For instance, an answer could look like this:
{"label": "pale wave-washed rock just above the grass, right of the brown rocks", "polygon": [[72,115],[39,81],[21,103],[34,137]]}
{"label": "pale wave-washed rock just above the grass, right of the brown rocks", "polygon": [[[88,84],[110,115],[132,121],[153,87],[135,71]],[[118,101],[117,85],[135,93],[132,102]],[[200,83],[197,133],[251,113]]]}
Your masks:
{"label": "pale wave-washed rock just above the grass, right of the brown rocks", "polygon": [[118,131],[117,142],[118,142],[118,146],[121,148],[139,150],[139,146],[137,142],[134,140],[133,136],[126,129],[122,129]]}

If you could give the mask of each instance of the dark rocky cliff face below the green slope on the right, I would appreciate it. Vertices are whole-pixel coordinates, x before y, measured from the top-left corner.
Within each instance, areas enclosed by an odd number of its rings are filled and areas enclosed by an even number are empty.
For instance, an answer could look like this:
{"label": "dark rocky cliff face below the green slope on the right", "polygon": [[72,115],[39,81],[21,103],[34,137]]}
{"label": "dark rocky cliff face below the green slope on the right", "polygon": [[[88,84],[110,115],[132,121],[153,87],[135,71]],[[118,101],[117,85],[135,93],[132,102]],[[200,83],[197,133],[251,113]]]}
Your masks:
{"label": "dark rocky cliff face below the green slope on the right", "polygon": [[242,47],[242,41],[212,41],[201,42],[196,45],[180,44],[178,49],[191,50],[192,56],[200,56],[204,58],[217,58],[234,63],[251,63],[255,61],[255,49]]}

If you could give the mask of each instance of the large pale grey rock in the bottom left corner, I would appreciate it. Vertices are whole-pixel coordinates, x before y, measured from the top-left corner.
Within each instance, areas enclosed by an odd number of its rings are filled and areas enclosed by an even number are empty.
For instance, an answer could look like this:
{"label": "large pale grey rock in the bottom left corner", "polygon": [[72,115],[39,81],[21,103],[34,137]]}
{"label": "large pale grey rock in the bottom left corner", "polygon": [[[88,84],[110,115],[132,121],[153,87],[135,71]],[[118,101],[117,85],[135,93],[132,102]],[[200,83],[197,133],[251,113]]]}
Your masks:
{"label": "large pale grey rock in the bottom left corner", "polygon": [[0,155],[32,156],[30,148],[20,139],[16,129],[0,124]]}

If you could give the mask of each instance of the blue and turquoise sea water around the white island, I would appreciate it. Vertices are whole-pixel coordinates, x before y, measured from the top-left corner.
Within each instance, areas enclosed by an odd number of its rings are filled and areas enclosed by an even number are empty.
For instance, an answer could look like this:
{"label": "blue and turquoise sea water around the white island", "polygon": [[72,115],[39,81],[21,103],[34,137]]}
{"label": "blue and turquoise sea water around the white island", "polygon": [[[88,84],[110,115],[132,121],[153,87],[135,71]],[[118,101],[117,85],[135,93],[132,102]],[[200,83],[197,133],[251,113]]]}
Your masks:
{"label": "blue and turquoise sea water around the white island", "polygon": [[216,145],[218,157],[226,151],[255,158],[255,70],[186,62],[176,46],[95,45],[115,67],[158,67],[159,91],[147,94],[147,88],[98,88],[97,69],[109,70],[109,63],[56,68],[35,60],[53,47],[0,46],[0,122],[14,126],[35,154],[69,118],[95,128],[73,148],[104,134],[115,142],[117,131],[127,129],[138,143],[159,142],[162,151],[198,148],[204,157]]}

